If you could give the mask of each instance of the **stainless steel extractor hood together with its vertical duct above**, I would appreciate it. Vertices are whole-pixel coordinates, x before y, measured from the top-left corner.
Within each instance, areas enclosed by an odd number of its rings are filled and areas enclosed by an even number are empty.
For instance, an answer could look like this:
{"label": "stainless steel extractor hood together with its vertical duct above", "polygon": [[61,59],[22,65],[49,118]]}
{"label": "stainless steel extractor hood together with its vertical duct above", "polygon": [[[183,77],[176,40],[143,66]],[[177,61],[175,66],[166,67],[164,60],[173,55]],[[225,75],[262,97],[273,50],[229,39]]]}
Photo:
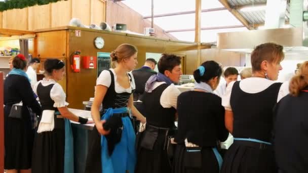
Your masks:
{"label": "stainless steel extractor hood together with its vertical duct above", "polygon": [[307,0],[290,1],[290,25],[293,27],[218,33],[217,48],[251,53],[257,45],[275,42],[284,46],[287,53],[308,53],[308,28],[307,22],[303,21],[303,11],[307,7],[303,1]]}

